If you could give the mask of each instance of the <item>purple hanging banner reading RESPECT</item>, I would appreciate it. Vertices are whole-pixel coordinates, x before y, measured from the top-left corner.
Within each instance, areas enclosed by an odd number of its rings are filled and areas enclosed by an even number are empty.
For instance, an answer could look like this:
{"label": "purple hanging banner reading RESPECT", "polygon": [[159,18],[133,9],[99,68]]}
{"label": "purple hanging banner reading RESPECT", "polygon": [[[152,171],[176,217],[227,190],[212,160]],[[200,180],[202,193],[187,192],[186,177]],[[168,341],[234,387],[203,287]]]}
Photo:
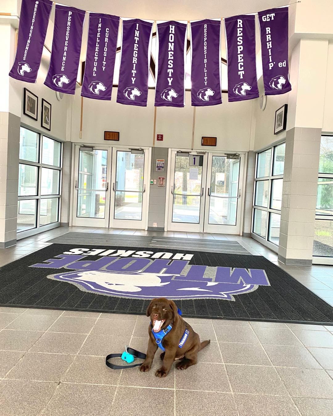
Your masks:
{"label": "purple hanging banner reading RESPECT", "polygon": [[256,73],[256,22],[254,15],[224,19],[228,64],[228,101],[259,97]]}

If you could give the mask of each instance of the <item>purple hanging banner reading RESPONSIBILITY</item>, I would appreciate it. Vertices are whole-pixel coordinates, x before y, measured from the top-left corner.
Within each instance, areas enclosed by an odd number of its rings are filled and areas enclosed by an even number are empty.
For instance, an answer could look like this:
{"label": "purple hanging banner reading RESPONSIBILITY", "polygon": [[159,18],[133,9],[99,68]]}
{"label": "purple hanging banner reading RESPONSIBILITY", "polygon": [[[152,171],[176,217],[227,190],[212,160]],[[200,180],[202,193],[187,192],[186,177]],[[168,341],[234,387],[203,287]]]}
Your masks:
{"label": "purple hanging banner reading RESPONSIBILITY", "polygon": [[191,55],[192,105],[222,104],[221,20],[191,22]]}

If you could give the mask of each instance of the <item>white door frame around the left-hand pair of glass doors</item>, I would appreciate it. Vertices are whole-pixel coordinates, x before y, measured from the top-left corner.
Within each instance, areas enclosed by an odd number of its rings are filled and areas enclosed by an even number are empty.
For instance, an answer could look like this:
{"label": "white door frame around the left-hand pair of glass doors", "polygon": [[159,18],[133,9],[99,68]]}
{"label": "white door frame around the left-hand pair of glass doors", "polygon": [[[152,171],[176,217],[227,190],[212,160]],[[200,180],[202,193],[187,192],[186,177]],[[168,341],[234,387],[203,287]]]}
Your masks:
{"label": "white door frame around the left-hand pair of glass doors", "polygon": [[[124,150],[129,150],[129,149],[144,149],[145,150],[145,154],[147,155],[147,178],[146,180],[144,179],[144,184],[146,184],[146,200],[147,200],[147,206],[146,206],[146,210],[147,210],[147,215],[144,221],[144,228],[137,228],[138,230],[147,230],[148,229],[148,212],[149,212],[149,194],[150,194],[150,176],[151,176],[151,161],[152,161],[152,148],[149,146],[125,146],[125,145],[121,145],[121,146],[117,146],[116,144],[112,145],[106,145],[106,144],[97,144],[97,143],[82,143],[82,142],[73,142],[72,143],[72,166],[71,166],[71,177],[70,177],[70,218],[69,218],[69,225],[72,226],[73,225],[73,218],[74,215],[76,215],[76,211],[75,209],[77,209],[77,207],[74,207],[74,203],[75,203],[75,146],[91,146],[91,147],[96,147],[98,149],[105,149],[108,150],[108,160],[110,157],[110,168],[111,168],[111,172],[110,170],[107,172],[108,173],[108,178],[109,178],[109,189],[107,192],[109,192],[109,213],[108,213],[108,222],[107,225],[101,226],[101,225],[91,225],[90,228],[114,228],[110,226],[110,218],[111,218],[111,203],[112,203],[112,199],[114,201],[114,198],[112,198],[112,179],[114,178],[113,174],[115,175],[115,168],[116,166],[112,166],[112,153],[113,153],[113,149],[117,148],[119,149],[124,149]],[[146,166],[146,161],[145,161],[145,166]],[[147,209],[148,208],[148,209]],[[113,211],[112,211],[113,212]],[[76,217],[75,217],[76,218]],[[93,219],[93,218],[92,218]],[[81,226],[81,225],[80,225]],[[85,227],[85,225],[82,225],[83,227]],[[87,226],[89,228],[89,226]],[[122,227],[122,228],[131,228],[131,227]]]}

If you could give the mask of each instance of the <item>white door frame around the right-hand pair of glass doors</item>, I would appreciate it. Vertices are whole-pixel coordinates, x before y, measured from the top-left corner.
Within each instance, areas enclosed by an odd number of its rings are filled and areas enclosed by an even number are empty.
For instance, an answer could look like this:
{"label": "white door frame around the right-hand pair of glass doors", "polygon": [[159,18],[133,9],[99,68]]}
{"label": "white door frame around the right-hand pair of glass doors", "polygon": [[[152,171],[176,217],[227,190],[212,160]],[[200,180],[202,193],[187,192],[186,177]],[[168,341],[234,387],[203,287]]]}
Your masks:
{"label": "white door frame around the right-hand pair of glass doors", "polygon": [[[244,228],[244,206],[245,206],[245,193],[246,193],[246,176],[247,176],[247,159],[248,159],[248,152],[247,151],[227,151],[227,150],[215,150],[215,149],[209,149],[209,150],[203,150],[203,149],[181,149],[181,148],[169,148],[168,151],[168,167],[167,167],[167,192],[166,192],[166,198],[165,198],[165,215],[164,215],[164,230],[168,231],[168,221],[169,221],[169,214],[170,214],[170,208],[171,208],[171,186],[173,186],[173,181],[171,181],[171,154],[172,151],[184,151],[184,152],[199,152],[199,153],[214,153],[214,154],[231,154],[231,153],[238,153],[241,156],[244,157],[244,173],[243,173],[243,181],[239,182],[239,186],[241,186],[241,198],[240,199],[240,207],[241,210],[240,213],[240,233],[239,235],[243,235],[243,228]],[[207,166],[208,167],[208,166]],[[207,172],[206,172],[207,174]],[[207,178],[206,178],[207,182]],[[207,186],[204,190],[204,197],[205,197],[205,207],[206,207],[206,195],[207,195]],[[175,231],[177,232],[177,231]],[[179,230],[181,233],[182,231]],[[238,234],[235,234],[238,235]]]}

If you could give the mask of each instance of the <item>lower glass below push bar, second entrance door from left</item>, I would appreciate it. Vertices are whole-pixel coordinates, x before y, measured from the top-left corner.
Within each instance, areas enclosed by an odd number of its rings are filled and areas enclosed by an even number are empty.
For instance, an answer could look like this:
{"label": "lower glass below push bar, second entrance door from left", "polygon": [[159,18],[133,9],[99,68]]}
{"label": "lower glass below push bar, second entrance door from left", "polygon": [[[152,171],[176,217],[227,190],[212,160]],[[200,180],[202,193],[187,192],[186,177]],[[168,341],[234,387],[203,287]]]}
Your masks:
{"label": "lower glass below push bar, second entrance door from left", "polygon": [[142,219],[142,192],[119,192],[115,194],[114,218],[116,220]]}

